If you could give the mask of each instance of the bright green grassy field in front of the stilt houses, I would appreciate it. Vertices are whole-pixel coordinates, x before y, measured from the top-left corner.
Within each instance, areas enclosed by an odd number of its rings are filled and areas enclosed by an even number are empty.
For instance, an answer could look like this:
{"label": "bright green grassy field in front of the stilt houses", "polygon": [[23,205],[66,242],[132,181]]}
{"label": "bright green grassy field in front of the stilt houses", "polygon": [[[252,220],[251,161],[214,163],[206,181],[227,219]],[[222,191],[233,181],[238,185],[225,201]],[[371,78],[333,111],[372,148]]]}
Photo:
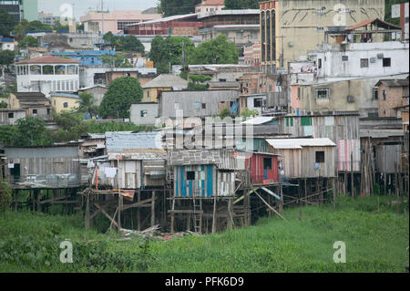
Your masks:
{"label": "bright green grassy field in front of the stilt houses", "polygon": [[[7,212],[0,214],[0,272],[405,272],[408,204],[396,211],[386,197],[339,197],[336,211],[331,204],[287,209],[288,222],[270,217],[220,234],[127,242],[116,242],[115,232],[84,232],[81,215]],[[73,242],[74,264],[59,262],[64,239]],[[333,263],[336,241],[346,245],[345,264]]]}

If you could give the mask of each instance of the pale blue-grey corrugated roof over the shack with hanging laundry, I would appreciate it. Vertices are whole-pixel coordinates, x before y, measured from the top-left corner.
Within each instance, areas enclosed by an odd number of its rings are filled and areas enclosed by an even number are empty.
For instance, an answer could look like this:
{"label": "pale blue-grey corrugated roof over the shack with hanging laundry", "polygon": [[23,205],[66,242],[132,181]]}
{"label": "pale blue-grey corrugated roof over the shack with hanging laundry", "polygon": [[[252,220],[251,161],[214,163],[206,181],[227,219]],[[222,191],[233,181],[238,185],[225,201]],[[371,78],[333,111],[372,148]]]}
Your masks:
{"label": "pale blue-grey corrugated roof over the shack with hanging laundry", "polygon": [[159,132],[106,132],[106,146],[108,153],[163,150],[162,135]]}

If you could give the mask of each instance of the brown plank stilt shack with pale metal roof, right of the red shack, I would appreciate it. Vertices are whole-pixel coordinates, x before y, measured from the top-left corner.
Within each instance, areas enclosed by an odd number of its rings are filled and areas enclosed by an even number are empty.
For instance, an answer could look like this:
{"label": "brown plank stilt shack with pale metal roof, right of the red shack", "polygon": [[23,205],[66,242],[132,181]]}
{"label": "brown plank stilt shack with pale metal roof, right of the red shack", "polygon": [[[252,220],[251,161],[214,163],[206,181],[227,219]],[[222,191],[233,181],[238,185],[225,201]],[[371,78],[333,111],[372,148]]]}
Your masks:
{"label": "brown plank stilt shack with pale metal roof, right of the red shack", "polygon": [[284,176],[292,179],[335,177],[336,144],[323,139],[269,139],[270,151],[282,156]]}

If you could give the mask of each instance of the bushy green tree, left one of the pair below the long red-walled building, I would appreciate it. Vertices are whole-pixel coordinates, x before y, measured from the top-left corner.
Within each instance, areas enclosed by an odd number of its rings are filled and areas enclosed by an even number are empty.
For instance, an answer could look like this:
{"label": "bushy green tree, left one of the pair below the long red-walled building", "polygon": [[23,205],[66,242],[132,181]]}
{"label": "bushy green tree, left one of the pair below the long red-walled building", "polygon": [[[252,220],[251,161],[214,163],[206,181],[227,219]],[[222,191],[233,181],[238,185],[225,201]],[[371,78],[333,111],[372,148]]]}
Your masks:
{"label": "bushy green tree, left one of the pair below the long red-walled building", "polygon": [[169,72],[170,65],[185,65],[195,45],[187,36],[156,36],[151,43],[149,58],[160,74]]}

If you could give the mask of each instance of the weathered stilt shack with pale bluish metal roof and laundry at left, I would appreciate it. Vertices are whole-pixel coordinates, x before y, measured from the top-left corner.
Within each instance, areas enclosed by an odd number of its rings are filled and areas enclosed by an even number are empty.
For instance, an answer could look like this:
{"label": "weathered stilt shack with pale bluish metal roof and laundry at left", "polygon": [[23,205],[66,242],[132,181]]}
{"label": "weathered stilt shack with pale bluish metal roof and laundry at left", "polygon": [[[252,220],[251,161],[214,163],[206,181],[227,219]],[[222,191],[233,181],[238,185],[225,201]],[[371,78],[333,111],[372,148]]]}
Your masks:
{"label": "weathered stilt shack with pale bluish metal roof and laundry at left", "polygon": [[166,151],[158,132],[106,132],[109,164],[93,173],[98,181],[122,189],[164,186]]}

